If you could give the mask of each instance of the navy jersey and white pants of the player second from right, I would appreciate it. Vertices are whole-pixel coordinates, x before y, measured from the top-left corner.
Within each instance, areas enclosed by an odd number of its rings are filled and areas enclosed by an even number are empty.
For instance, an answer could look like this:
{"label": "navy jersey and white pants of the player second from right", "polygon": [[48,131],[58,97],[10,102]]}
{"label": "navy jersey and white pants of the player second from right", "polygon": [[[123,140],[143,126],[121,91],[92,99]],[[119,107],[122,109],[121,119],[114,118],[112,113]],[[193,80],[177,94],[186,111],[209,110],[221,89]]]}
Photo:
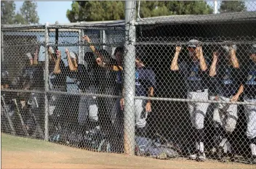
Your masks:
{"label": "navy jersey and white pants of the player second from right", "polygon": [[[226,59],[220,61],[216,69],[217,75],[215,78],[217,82],[216,89],[218,94],[218,100],[229,102],[239,90],[239,69],[234,68],[233,65],[229,64]],[[220,127],[220,131],[216,132],[218,134],[217,138],[221,139],[218,145],[218,150],[220,152],[226,152],[227,150],[229,150],[232,153],[231,133],[233,133],[233,131],[235,130],[238,120],[237,104],[218,103],[217,110],[219,113],[219,116],[216,120],[218,125],[215,127],[216,130],[217,127]]]}

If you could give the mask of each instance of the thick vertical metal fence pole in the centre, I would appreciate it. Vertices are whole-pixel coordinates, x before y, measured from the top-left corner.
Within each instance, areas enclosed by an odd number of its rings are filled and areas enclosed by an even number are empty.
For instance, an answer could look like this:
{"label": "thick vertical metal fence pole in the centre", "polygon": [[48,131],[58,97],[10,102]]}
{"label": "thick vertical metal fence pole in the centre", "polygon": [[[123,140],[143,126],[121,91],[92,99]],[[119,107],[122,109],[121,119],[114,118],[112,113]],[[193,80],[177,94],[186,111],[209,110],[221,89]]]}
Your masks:
{"label": "thick vertical metal fence pole in the centre", "polygon": [[125,1],[124,153],[135,154],[135,17],[136,1]]}

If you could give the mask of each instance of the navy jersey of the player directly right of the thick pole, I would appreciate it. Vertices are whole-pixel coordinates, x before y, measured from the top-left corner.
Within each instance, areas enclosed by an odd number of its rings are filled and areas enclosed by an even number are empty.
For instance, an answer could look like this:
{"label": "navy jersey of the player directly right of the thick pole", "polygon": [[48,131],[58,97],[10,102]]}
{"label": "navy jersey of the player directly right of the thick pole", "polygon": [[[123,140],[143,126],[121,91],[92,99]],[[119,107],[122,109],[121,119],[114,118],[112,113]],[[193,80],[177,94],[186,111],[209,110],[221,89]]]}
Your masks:
{"label": "navy jersey of the player directly right of the thick pole", "polygon": [[135,94],[136,96],[147,96],[150,87],[155,88],[155,73],[150,68],[136,68],[135,72]]}

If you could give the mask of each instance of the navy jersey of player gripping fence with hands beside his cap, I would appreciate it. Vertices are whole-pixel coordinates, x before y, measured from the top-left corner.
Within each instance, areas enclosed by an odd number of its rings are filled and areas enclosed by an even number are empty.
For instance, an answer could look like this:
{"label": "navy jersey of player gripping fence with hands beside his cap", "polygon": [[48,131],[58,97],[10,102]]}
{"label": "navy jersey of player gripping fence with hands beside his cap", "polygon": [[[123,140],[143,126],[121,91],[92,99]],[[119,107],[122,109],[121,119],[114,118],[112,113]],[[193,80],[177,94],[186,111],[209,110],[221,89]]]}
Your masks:
{"label": "navy jersey of player gripping fence with hands beside his cap", "polygon": [[189,59],[179,64],[179,72],[182,74],[188,91],[207,89],[209,86],[209,71],[202,71],[199,61]]}

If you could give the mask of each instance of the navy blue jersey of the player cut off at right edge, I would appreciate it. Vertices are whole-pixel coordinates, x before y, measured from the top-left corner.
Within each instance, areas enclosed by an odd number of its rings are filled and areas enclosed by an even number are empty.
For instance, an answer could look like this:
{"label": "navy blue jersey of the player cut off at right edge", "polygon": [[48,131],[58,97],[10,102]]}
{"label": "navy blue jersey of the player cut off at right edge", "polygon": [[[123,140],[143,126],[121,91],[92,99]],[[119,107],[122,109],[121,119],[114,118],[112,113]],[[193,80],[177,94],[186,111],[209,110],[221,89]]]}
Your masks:
{"label": "navy blue jersey of the player cut off at right edge", "polygon": [[256,63],[249,62],[246,66],[241,71],[243,73],[244,94],[246,96],[256,96]]}

